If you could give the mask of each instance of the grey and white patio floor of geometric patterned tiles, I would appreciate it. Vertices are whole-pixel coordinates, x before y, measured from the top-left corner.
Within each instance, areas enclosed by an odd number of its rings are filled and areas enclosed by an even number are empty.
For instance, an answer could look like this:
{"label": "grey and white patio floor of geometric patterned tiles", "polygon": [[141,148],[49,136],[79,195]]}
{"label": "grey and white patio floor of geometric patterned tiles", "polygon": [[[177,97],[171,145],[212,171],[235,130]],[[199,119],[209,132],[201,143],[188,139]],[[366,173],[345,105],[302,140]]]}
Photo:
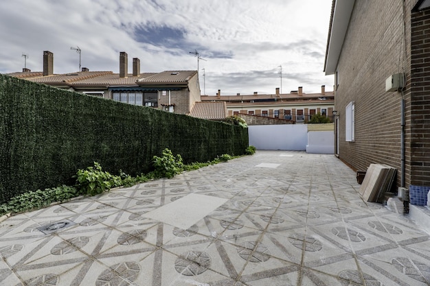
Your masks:
{"label": "grey and white patio floor of geometric patterned tiles", "polygon": [[[358,190],[335,156],[258,151],[23,213],[0,224],[0,285],[430,285],[429,234]],[[153,212],[176,200],[186,230]]]}

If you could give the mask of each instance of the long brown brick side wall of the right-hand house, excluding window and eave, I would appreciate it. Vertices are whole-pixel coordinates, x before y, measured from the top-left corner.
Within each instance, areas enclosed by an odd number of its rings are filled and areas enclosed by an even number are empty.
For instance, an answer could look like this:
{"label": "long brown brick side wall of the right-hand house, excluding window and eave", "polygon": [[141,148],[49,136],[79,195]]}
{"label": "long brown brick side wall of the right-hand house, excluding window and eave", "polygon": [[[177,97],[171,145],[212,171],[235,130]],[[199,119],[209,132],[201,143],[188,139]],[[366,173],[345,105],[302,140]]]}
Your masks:
{"label": "long brown brick side wall of the right-hand house, excluding window and eave", "polygon": [[[410,91],[385,92],[385,79],[405,72],[410,81],[411,6],[415,0],[355,1],[337,67],[335,110],[339,115],[339,158],[353,169],[371,163],[398,169],[400,183],[400,134],[402,97],[410,115]],[[405,5],[405,9],[403,6]],[[403,10],[405,15],[403,15]],[[405,27],[403,23],[405,21]],[[405,32],[405,33],[404,33]],[[354,102],[354,142],[346,141],[346,106]],[[411,121],[407,119],[406,140]],[[410,149],[407,147],[407,162]],[[408,170],[408,166],[406,166]],[[407,172],[407,180],[410,181]],[[409,183],[409,182],[408,182]]]}

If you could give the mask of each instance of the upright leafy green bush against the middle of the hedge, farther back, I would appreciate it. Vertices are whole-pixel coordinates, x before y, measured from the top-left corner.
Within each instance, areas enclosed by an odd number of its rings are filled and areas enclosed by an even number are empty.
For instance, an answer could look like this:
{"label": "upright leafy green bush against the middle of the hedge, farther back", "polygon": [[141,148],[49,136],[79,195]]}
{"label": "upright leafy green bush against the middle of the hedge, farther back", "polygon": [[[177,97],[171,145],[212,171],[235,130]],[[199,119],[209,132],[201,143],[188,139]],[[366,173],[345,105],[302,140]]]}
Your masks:
{"label": "upright leafy green bush against the middle of the hedge, farther back", "polygon": [[174,175],[181,174],[183,162],[182,156],[173,156],[172,151],[168,148],[164,149],[162,156],[154,156],[153,165],[155,167],[155,175],[160,178],[173,178]]}

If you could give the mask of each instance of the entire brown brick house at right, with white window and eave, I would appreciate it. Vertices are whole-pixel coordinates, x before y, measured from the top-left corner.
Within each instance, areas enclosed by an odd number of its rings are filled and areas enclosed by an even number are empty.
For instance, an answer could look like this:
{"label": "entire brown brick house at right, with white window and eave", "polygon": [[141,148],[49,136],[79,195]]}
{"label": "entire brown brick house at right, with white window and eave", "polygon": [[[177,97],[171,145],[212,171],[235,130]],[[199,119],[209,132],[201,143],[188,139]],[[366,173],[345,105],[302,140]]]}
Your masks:
{"label": "entire brown brick house at right, with white window and eave", "polygon": [[357,170],[395,167],[398,187],[426,193],[429,38],[429,0],[334,0],[324,67],[335,75],[337,156]]}

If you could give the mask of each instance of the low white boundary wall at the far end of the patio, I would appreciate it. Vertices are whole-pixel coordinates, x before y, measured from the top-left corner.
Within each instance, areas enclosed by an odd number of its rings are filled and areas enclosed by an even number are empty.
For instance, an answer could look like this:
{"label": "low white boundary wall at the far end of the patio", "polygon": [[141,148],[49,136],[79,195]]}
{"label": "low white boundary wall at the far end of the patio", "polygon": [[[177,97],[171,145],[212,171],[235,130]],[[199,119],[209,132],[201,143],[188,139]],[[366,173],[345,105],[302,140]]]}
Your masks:
{"label": "low white boundary wall at the far end of the patio", "polygon": [[316,154],[335,153],[335,134],[310,131],[307,124],[248,126],[249,145],[258,150],[292,150]]}

